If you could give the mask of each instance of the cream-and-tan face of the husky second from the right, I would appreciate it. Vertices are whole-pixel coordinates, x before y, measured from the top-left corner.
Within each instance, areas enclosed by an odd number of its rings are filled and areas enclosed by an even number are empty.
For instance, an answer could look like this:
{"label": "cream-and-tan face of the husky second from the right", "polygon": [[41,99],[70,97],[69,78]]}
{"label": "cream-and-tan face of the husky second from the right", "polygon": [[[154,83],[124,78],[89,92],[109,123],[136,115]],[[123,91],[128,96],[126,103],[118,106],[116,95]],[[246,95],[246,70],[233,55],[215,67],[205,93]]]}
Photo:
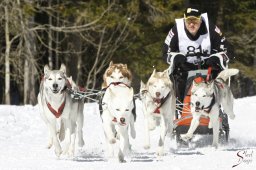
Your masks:
{"label": "cream-and-tan face of the husky second from the right", "polygon": [[155,100],[161,100],[167,96],[173,86],[169,78],[168,70],[163,72],[156,72],[154,70],[146,86],[151,97]]}

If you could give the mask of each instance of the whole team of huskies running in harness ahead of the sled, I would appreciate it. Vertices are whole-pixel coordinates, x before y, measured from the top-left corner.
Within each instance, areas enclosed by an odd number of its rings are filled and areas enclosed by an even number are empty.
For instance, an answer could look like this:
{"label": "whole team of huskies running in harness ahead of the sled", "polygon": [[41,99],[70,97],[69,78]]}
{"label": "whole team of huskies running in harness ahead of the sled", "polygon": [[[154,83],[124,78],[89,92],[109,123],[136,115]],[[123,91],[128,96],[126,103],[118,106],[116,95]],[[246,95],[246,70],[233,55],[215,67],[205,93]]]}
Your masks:
{"label": "whole team of huskies running in harness ahead of the sled", "polygon": [[[237,69],[226,69],[211,82],[193,82],[191,88],[191,112],[193,119],[186,134],[181,135],[184,141],[192,138],[199,125],[201,115],[210,118],[209,128],[213,128],[213,146],[218,146],[219,106],[231,119],[233,113],[233,95],[226,80],[238,73]],[[132,75],[126,64],[113,64],[103,75],[101,100],[101,119],[108,148],[108,156],[125,162],[125,155],[131,149],[130,136],[134,139],[136,121],[134,91],[131,87]],[[38,104],[41,117],[47,125],[49,138],[47,148],[54,145],[55,154],[74,156],[76,139],[78,146],[83,140],[84,100],[71,97],[68,88],[77,90],[72,77],[67,77],[66,67],[59,70],[44,67],[44,76],[40,84]],[[164,155],[164,143],[167,134],[173,131],[173,119],[176,109],[176,96],[173,82],[168,70],[153,71],[147,83],[141,82],[140,99],[144,113],[145,141],[144,148],[150,148],[150,131],[160,126],[157,155]],[[211,107],[208,107],[211,106]],[[130,132],[130,134],[128,133]],[[77,136],[77,137],[76,137]],[[117,142],[119,140],[119,142]],[[115,145],[118,152],[114,154]]]}

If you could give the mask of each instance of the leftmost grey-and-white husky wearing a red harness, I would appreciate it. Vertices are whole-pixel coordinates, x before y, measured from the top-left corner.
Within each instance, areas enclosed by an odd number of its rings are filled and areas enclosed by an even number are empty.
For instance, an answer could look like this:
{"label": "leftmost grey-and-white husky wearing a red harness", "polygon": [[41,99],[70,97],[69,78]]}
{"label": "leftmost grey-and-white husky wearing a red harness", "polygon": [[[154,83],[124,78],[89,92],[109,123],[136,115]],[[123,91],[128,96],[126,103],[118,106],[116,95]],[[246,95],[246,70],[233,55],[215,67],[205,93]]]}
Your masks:
{"label": "leftmost grey-and-white husky wearing a red harness", "polygon": [[[60,70],[44,67],[44,76],[37,99],[41,117],[49,130],[47,147],[51,148],[54,145],[57,157],[62,153],[71,157],[74,155],[76,132],[79,147],[84,145],[82,130],[84,102],[72,99],[66,90],[67,86],[70,86],[70,83],[67,80],[64,65],[61,65]],[[72,86],[76,87],[75,84]],[[64,139],[66,145],[62,150],[60,141]]]}

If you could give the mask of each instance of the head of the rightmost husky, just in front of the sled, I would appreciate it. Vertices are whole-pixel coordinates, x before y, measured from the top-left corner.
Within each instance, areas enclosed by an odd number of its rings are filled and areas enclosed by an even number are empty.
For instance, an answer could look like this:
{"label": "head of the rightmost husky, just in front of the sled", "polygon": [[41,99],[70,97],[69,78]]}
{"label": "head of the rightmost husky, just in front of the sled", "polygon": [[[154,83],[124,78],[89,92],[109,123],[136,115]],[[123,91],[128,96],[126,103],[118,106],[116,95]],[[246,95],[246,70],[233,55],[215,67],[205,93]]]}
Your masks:
{"label": "head of the rightmost husky, just in front of the sled", "polygon": [[191,110],[199,112],[211,105],[214,97],[214,82],[193,81],[191,89]]}

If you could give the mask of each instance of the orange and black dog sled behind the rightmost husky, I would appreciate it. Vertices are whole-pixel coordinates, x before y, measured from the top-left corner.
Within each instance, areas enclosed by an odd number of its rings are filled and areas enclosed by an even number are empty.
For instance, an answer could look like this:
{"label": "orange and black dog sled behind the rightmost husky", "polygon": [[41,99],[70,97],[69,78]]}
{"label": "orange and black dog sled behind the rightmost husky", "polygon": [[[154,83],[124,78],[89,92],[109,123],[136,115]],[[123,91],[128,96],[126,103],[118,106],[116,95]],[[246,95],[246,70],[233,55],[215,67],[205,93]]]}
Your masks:
{"label": "orange and black dog sled behind the rightmost husky", "polygon": [[[208,70],[199,69],[193,70],[188,72],[188,77],[186,80],[186,88],[184,93],[184,100],[177,101],[176,103],[176,113],[175,113],[175,120],[173,122],[173,135],[176,138],[176,142],[179,146],[181,145],[188,145],[189,141],[184,141],[181,138],[182,134],[186,134],[190,128],[191,121],[193,119],[191,113],[191,87],[192,82],[201,82],[201,81],[208,81],[209,77],[211,76],[211,69]],[[177,88],[177,87],[176,87]],[[229,123],[228,123],[228,115],[223,111],[220,106],[219,112],[219,142],[220,143],[228,143],[229,141]],[[213,135],[213,129],[208,128],[210,118],[208,116],[201,116],[199,121],[199,126],[196,128],[194,134],[199,135]]]}

